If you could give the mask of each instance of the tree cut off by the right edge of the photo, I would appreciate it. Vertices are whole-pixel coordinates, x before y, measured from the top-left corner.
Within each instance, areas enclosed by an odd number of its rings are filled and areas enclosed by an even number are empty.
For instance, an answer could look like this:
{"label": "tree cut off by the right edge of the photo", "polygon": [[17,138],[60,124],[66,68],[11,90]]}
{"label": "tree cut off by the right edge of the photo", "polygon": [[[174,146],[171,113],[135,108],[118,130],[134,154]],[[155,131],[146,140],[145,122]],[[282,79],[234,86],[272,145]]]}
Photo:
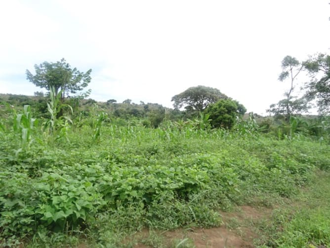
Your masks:
{"label": "tree cut off by the right edge of the photo", "polygon": [[[305,68],[312,76],[307,83],[306,98],[316,99],[319,112],[330,113],[330,55],[319,53],[305,63]],[[321,73],[321,78],[317,78]]]}

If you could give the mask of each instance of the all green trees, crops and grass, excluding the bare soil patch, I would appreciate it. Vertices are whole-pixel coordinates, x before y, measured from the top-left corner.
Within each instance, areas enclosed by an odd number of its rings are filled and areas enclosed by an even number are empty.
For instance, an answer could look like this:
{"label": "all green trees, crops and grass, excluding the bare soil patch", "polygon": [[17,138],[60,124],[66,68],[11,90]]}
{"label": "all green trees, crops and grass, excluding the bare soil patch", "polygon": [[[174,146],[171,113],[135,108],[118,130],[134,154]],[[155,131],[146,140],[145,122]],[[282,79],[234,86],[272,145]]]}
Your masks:
{"label": "all green trees, crops and grass, excluding the bare soil patch", "polygon": [[[189,235],[168,242],[160,232],[219,227],[220,211],[240,205],[279,208],[256,225],[258,246],[329,246],[330,117],[298,115],[310,99],[328,111],[328,60],[287,56],[280,80],[291,87],[268,118],[244,117],[242,104],[205,86],[174,96],[174,110],[66,98],[90,70],[36,65],[27,77],[48,93],[0,95],[0,246],[194,247]],[[292,92],[305,69],[325,75],[300,101]],[[282,204],[296,199],[300,208]],[[144,228],[148,237],[134,236]]]}

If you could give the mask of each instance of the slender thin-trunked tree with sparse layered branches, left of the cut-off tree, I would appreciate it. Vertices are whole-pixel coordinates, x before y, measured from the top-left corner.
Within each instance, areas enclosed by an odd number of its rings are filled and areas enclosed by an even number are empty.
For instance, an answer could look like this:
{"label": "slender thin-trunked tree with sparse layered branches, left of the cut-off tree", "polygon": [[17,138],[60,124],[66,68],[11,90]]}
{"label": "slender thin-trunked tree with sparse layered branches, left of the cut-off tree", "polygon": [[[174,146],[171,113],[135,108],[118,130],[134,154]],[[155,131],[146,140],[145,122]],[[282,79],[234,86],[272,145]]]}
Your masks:
{"label": "slender thin-trunked tree with sparse layered branches, left of the cut-off tree", "polygon": [[276,104],[271,104],[270,108],[267,109],[267,112],[273,113],[275,115],[284,115],[287,120],[289,120],[291,115],[299,114],[301,112],[307,111],[309,104],[307,99],[297,98],[292,96],[294,90],[294,82],[303,70],[304,63],[299,62],[295,57],[286,56],[282,60],[282,72],[279,76],[279,80],[283,82],[284,80],[290,80],[290,89],[284,94],[285,99],[280,100]]}

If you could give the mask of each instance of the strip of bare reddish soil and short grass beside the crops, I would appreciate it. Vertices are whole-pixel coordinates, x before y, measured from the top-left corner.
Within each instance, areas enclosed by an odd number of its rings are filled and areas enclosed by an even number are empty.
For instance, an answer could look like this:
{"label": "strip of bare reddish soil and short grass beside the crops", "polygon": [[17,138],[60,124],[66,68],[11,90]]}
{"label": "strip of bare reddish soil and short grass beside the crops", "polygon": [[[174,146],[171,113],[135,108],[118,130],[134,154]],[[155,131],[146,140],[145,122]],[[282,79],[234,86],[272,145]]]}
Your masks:
{"label": "strip of bare reddish soil and short grass beside the crops", "polygon": [[264,198],[271,206],[241,205],[219,211],[220,227],[181,228],[174,231],[142,230],[135,247],[329,247],[329,172],[317,171],[309,185],[291,198]]}

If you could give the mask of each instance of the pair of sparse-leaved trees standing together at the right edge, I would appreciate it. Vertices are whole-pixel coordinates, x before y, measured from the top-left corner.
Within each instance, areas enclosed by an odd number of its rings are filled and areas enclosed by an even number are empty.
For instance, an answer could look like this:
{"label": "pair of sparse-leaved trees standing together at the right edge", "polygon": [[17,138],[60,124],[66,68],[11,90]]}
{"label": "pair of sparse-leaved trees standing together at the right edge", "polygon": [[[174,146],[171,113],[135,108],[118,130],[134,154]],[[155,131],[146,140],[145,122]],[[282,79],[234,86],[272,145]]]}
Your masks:
{"label": "pair of sparse-leaved trees standing together at the right edge", "polygon": [[[330,113],[330,55],[319,53],[302,62],[288,55],[282,60],[282,69],[279,80],[289,78],[290,88],[284,94],[285,99],[270,105],[269,113],[285,116],[289,120],[290,116],[308,112],[314,99],[320,114]],[[298,98],[293,96],[293,92],[299,86],[297,77],[303,71],[309,74],[310,81],[305,83],[305,87],[300,85],[300,90],[305,90],[305,93]]]}

